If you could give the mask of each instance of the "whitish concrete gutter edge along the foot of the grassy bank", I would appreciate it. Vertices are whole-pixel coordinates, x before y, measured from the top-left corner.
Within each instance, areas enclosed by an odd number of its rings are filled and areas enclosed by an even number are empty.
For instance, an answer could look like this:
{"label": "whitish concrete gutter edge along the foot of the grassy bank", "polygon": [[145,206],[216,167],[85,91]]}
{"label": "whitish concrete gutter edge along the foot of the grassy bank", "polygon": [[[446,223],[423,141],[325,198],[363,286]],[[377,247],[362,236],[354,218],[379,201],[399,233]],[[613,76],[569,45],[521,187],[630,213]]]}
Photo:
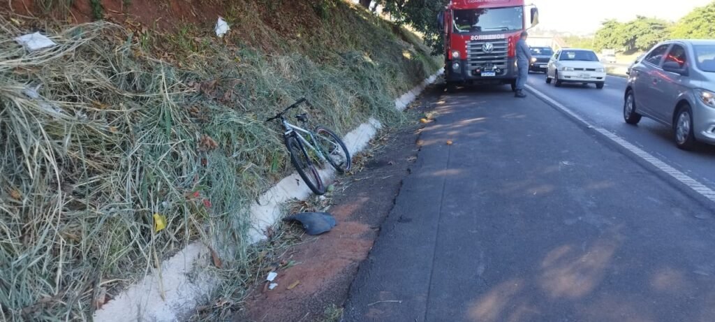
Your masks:
{"label": "whitish concrete gutter edge along the foot of the grassy bank", "polygon": [[[435,82],[444,72],[440,69],[436,74],[425,79],[418,86],[402,97],[395,99],[395,108],[403,110],[418,97],[425,87]],[[377,119],[370,118],[355,130],[347,133],[343,141],[351,155],[363,150],[380,129]],[[326,181],[332,180],[334,173],[320,173]],[[263,233],[275,225],[281,218],[280,206],[289,200],[305,200],[311,194],[310,189],[302,183],[297,173],[283,178],[277,185],[265,192],[258,203],[250,206],[250,216],[253,228],[250,230],[250,243],[256,243],[266,238]],[[156,321],[169,322],[188,318],[200,301],[209,298],[212,288],[217,283],[209,278],[209,274],[201,273],[201,268],[209,263],[210,253],[206,245],[194,242],[179,251],[168,260],[162,262],[162,286],[164,301],[160,295],[157,271],[147,274],[138,283],[129,286],[119,296],[94,312],[94,321],[125,322],[125,321]],[[192,274],[193,273],[193,274]]]}

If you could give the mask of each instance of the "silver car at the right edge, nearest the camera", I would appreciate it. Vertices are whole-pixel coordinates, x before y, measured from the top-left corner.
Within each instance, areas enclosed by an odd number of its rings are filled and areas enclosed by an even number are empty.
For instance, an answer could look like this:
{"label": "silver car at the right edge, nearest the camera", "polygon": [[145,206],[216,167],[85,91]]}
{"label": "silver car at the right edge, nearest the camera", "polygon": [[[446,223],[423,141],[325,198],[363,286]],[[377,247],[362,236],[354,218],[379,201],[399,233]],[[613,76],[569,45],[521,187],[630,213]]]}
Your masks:
{"label": "silver car at the right edge, nearest the camera", "polygon": [[676,145],[715,145],[715,40],[662,42],[628,76],[623,117],[641,116],[673,128]]}

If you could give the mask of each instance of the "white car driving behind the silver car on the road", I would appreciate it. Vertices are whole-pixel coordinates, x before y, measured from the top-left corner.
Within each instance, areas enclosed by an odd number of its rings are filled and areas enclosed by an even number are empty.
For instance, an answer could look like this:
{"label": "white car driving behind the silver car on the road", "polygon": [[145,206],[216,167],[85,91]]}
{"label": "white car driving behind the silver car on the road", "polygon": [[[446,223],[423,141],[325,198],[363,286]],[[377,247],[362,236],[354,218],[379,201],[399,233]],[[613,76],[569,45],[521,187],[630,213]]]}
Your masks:
{"label": "white car driving behind the silver car on the road", "polygon": [[606,83],[606,67],[598,61],[598,55],[588,49],[561,49],[548,61],[546,83],[556,82],[556,87],[563,83],[596,84],[602,89]]}

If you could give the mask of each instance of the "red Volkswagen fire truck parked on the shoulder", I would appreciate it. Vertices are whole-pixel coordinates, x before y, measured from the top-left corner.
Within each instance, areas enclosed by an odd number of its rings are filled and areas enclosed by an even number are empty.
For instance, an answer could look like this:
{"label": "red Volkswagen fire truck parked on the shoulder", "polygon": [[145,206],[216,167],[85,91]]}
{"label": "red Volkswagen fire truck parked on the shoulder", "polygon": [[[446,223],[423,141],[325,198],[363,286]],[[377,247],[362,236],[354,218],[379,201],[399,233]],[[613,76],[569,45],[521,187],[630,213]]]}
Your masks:
{"label": "red Volkswagen fire truck parked on the shoulder", "polygon": [[[438,24],[445,47],[445,80],[458,84],[516,87],[516,42],[526,29],[524,0],[451,0]],[[531,27],[538,9],[531,6]]]}

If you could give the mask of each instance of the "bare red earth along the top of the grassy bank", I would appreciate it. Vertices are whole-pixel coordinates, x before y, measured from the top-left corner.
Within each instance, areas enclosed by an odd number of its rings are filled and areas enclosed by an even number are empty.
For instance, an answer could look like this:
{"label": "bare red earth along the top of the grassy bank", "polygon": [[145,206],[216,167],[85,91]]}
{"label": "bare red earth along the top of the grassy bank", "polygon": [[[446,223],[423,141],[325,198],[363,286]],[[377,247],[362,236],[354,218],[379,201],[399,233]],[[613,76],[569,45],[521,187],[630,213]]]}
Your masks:
{"label": "bare red earth along the top of the grassy bank", "polygon": [[[49,17],[71,24],[97,20],[92,1],[71,1],[69,6],[61,2],[51,1],[49,3],[53,5],[48,8],[39,0],[1,1],[0,11],[25,16]],[[258,16],[265,21],[265,25],[289,39],[295,36],[296,29],[310,30],[320,25],[320,19],[315,15],[310,0],[283,1],[272,8],[267,8],[265,4],[257,4],[256,1],[230,0],[100,0],[100,3],[102,19],[118,23],[130,19],[157,31],[177,31],[187,24],[196,24],[205,29],[214,26],[219,16],[230,15],[240,16],[235,17],[241,23],[240,26],[235,26],[237,29],[252,32],[253,35],[241,32],[242,38],[245,39],[255,36],[257,26],[255,21],[240,18]]]}

